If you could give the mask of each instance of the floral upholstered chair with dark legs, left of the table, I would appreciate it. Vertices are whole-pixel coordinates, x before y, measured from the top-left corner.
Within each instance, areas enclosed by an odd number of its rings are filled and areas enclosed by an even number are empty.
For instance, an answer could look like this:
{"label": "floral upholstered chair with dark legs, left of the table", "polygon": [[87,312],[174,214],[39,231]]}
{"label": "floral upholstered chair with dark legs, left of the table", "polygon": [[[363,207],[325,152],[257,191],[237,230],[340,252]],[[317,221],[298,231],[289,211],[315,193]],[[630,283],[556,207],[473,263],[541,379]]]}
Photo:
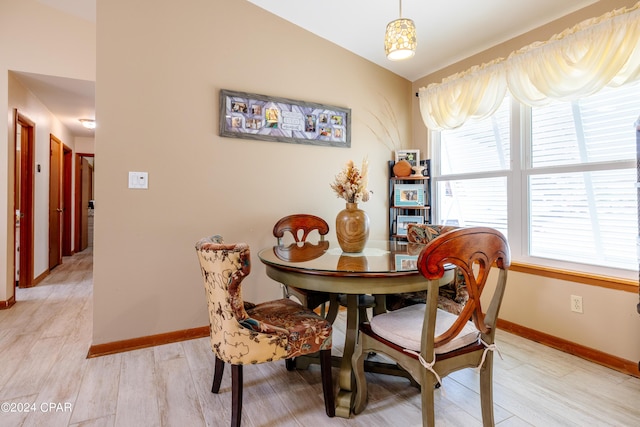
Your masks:
{"label": "floral upholstered chair with dark legs, left of the table", "polygon": [[252,304],[242,299],[251,270],[249,246],[225,244],[221,236],[196,244],[209,307],[215,354],[212,393],[218,393],[224,364],[231,365],[231,425],[242,417],[242,365],[320,353],[325,411],[335,415],[331,377],[331,324],[290,299]]}

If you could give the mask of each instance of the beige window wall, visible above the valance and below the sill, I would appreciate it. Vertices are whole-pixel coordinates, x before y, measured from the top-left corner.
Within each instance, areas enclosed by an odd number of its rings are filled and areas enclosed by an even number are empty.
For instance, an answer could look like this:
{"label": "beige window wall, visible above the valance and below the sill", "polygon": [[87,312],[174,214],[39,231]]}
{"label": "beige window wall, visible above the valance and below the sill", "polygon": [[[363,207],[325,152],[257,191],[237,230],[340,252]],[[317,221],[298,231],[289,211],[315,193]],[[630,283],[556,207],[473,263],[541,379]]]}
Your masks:
{"label": "beige window wall, visible above the valance and below the sill", "polygon": [[[478,55],[446,67],[412,83],[413,139],[426,141],[427,129],[420,117],[419,88],[464,71],[471,66],[506,58],[511,52],[552,35],[585,19],[631,7],[637,0],[606,0],[549,23],[535,31],[497,45]],[[640,107],[639,107],[640,113]],[[629,124],[629,132],[633,126]],[[570,296],[583,297],[584,313],[570,311]],[[640,360],[640,315],[638,294],[510,272],[500,317],[518,325],[603,351],[630,361]]]}

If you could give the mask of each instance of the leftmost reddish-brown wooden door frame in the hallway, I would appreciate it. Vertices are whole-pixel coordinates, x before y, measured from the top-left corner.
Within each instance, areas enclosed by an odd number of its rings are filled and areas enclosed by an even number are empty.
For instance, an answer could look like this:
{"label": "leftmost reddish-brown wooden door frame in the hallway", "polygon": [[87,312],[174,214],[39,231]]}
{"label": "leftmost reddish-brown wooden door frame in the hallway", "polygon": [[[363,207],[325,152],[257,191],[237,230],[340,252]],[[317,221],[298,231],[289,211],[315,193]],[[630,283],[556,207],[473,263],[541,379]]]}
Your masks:
{"label": "leftmost reddish-brown wooden door frame in the hallway", "polygon": [[[13,197],[13,217],[14,217],[14,233],[17,228],[17,221],[20,220],[20,259],[17,266],[20,271],[18,277],[18,286],[20,288],[29,288],[33,283],[33,235],[34,235],[34,212],[35,194],[34,194],[34,174],[35,174],[35,128],[36,124],[26,116],[22,115],[17,108],[13,110],[14,114],[14,197]],[[16,163],[18,149],[18,126],[22,126],[20,141],[20,161]],[[20,215],[18,219],[15,215],[16,207],[20,206]],[[14,278],[15,278],[15,234],[13,239],[14,254]],[[24,256],[26,255],[26,256]]]}

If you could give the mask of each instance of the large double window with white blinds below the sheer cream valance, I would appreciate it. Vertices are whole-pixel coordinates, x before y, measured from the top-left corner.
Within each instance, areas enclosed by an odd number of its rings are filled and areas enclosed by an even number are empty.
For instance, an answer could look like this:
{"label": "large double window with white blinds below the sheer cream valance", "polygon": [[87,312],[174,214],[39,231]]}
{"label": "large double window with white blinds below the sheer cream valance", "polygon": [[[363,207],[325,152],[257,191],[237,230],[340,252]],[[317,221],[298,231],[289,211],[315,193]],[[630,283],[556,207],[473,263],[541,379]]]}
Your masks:
{"label": "large double window with white blinds below the sheer cream valance", "polygon": [[640,84],[536,108],[506,98],[435,135],[435,222],[497,228],[514,260],[634,277],[638,99]]}

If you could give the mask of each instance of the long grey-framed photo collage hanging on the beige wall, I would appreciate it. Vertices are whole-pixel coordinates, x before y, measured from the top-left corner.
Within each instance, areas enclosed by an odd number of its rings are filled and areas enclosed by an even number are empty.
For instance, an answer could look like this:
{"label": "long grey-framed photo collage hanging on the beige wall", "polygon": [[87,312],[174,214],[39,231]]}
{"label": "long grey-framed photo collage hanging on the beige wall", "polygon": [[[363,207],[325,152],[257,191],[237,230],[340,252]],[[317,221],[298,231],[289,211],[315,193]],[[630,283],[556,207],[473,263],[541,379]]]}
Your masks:
{"label": "long grey-framed photo collage hanging on the beige wall", "polygon": [[222,137],[351,147],[351,109],[220,90]]}

